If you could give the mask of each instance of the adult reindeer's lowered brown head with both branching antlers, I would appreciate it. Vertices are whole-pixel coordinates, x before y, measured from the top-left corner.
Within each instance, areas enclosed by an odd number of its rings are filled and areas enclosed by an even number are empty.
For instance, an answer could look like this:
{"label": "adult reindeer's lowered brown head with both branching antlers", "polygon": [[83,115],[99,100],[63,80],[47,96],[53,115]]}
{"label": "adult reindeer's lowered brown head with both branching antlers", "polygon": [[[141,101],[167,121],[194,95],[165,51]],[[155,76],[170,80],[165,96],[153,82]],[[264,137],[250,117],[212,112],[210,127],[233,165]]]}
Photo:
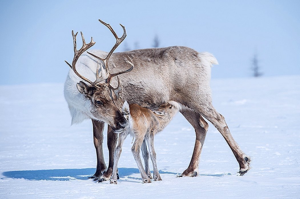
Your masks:
{"label": "adult reindeer's lowered brown head with both branching antlers", "polygon": [[[129,68],[126,71],[121,71],[118,73],[111,74],[108,68],[108,60],[110,56],[112,55],[113,51],[121,44],[121,42],[125,39],[126,37],[126,30],[123,25],[122,28],[124,30],[123,36],[121,38],[118,38],[117,34],[115,31],[112,29],[112,27],[109,24],[106,24],[102,22],[100,19],[99,21],[107,26],[110,31],[113,33],[113,35],[116,38],[116,44],[114,47],[110,50],[108,53],[107,57],[105,59],[102,59],[94,54],[89,53],[90,55],[94,56],[95,58],[99,59],[100,62],[104,64],[104,68],[101,67],[101,76],[99,76],[99,62],[97,62],[97,69],[95,71],[96,74],[96,80],[94,82],[90,81],[89,79],[85,78],[84,76],[80,75],[77,70],[76,70],[76,62],[79,58],[79,56],[85,51],[91,48],[96,42],[93,41],[93,38],[91,38],[91,42],[86,44],[85,39],[83,37],[82,32],[81,37],[82,37],[82,47],[77,50],[76,48],[76,36],[77,33],[74,34],[72,30],[72,35],[73,35],[73,42],[74,42],[74,58],[72,65],[70,65],[67,61],[65,61],[70,68],[74,71],[74,73],[79,76],[82,80],[77,83],[77,89],[78,91],[83,94],[89,101],[90,101],[90,110],[89,112],[93,115],[94,118],[97,120],[104,121],[105,123],[108,123],[115,129],[121,129],[124,128],[125,124],[125,119],[122,116],[120,109],[122,108],[123,104],[123,99],[120,98],[120,95],[122,93],[122,85],[120,82],[120,79],[118,75],[128,73],[134,68],[134,64],[131,60],[130,57],[129,60],[127,59],[127,62],[131,65],[131,68]],[[100,63],[100,65],[102,65]],[[112,79],[114,76],[117,76],[118,79],[118,86],[114,88],[113,86],[110,85]]]}

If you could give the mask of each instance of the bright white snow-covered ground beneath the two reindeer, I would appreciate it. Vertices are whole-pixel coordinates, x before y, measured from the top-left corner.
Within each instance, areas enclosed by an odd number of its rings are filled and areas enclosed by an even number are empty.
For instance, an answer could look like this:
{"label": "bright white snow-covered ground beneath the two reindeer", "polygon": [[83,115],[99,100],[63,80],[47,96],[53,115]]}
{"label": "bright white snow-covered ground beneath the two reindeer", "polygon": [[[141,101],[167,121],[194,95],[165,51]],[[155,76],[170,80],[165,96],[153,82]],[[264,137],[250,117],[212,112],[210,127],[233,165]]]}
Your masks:
{"label": "bright white snow-covered ground beneath the two reindeer", "polygon": [[[120,180],[95,183],[91,121],[70,126],[62,84],[0,86],[0,198],[299,198],[300,76],[213,79],[213,104],[252,169],[238,163],[210,124],[198,177],[187,168],[195,133],[181,114],[155,137],[162,181],[143,184],[130,137]],[[108,161],[104,138],[104,156]],[[108,163],[107,163],[108,165]]]}

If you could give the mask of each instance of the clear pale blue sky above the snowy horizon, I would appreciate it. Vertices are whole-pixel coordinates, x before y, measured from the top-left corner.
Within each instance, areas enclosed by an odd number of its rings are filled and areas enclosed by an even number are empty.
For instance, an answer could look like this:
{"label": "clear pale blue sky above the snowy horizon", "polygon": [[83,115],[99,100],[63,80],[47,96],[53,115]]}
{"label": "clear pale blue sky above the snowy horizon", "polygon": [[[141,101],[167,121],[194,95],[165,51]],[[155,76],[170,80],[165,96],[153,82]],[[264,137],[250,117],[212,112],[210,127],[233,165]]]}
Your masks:
{"label": "clear pale blue sky above the snowy horizon", "polygon": [[93,36],[93,49],[114,45],[98,19],[119,35],[123,24],[131,48],[152,47],[157,34],[161,47],[213,53],[212,78],[251,76],[255,50],[265,76],[300,74],[299,10],[300,1],[1,1],[0,84],[64,82],[72,30]]}

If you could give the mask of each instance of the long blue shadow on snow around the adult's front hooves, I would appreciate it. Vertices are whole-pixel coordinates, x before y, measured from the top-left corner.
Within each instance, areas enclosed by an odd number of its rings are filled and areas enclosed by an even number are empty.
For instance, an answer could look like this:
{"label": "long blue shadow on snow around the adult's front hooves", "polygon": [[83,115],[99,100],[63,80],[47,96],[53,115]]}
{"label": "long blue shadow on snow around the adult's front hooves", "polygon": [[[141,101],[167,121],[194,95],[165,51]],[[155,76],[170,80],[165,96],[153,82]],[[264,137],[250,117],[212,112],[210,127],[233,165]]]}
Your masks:
{"label": "long blue shadow on snow around the adult's front hooves", "polygon": [[[95,173],[95,168],[86,169],[49,169],[28,171],[3,172],[7,178],[24,178],[27,180],[89,180],[89,176]],[[120,177],[140,173],[136,168],[118,168]]]}

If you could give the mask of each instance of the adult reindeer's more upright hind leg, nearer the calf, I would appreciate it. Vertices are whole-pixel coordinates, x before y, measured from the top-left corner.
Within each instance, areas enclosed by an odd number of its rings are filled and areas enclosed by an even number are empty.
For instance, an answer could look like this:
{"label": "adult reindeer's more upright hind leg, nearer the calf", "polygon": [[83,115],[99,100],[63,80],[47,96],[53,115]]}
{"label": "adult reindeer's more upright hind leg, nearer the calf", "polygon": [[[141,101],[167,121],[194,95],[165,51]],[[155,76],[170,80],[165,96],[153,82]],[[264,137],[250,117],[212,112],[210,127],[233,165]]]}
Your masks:
{"label": "adult reindeer's more upright hind leg, nearer the calf", "polygon": [[181,110],[180,112],[195,129],[196,142],[193,151],[193,156],[192,159],[190,160],[190,165],[181,175],[179,175],[179,177],[182,176],[194,177],[198,175],[199,160],[200,160],[200,155],[204,144],[204,140],[206,137],[206,132],[208,130],[208,123],[202,118],[202,116],[199,113],[196,113],[191,109],[184,109]]}

